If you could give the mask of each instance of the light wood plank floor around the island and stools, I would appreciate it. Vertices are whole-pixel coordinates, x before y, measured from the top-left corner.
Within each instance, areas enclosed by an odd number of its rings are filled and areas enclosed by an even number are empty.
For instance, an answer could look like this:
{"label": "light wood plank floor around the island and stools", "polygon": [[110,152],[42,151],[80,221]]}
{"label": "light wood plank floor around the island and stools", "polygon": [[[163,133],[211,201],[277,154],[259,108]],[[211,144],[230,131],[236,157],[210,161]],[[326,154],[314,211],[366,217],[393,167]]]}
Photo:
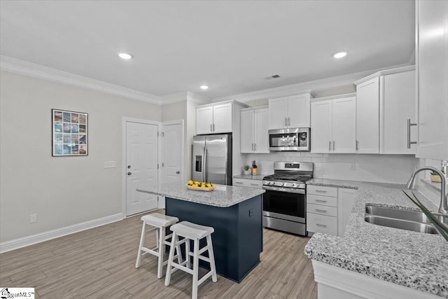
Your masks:
{"label": "light wood plank floor around the island and stools", "polygon": [[[160,212],[160,211],[159,211]],[[157,259],[135,268],[141,216],[0,254],[0,286],[34,287],[36,298],[191,298],[191,275],[157,279]],[[149,233],[146,246],[155,246]],[[237,284],[220,277],[199,287],[199,298],[317,298],[308,237],[264,230],[261,263]],[[200,276],[204,270],[200,270]]]}

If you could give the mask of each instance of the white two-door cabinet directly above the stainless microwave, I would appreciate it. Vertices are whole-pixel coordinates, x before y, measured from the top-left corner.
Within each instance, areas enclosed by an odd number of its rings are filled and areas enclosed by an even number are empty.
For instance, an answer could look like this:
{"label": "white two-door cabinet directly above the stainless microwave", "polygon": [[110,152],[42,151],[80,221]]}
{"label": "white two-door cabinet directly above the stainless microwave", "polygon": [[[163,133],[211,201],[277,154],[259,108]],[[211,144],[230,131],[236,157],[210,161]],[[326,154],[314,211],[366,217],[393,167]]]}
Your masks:
{"label": "white two-door cabinet directly above the stainless microwave", "polygon": [[269,99],[269,129],[309,127],[310,99],[309,93]]}

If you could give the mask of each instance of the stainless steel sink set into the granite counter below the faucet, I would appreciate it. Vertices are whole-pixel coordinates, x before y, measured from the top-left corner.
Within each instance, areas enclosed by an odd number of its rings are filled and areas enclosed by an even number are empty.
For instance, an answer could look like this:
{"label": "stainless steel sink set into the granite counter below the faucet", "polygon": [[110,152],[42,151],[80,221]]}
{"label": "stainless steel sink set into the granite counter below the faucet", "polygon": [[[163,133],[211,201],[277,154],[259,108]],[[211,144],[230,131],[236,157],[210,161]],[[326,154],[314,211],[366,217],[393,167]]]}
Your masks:
{"label": "stainless steel sink set into the granite counter below the faucet", "polygon": [[412,230],[414,232],[425,232],[437,234],[428,217],[423,212],[407,211],[404,209],[374,207],[365,205],[365,218],[368,223],[388,226],[389,228],[400,228],[402,230]]}

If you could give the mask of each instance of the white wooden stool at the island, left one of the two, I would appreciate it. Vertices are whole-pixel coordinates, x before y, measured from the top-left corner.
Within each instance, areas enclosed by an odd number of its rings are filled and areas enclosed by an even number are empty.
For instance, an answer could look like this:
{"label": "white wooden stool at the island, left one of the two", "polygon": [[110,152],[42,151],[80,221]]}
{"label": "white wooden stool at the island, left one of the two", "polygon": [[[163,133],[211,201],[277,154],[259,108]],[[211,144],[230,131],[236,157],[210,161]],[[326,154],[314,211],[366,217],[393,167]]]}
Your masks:
{"label": "white wooden stool at the island, left one of the two", "polygon": [[[143,221],[143,227],[141,228],[141,237],[139,244],[139,253],[137,254],[137,262],[135,263],[135,267],[140,267],[141,256],[144,256],[146,253],[151,253],[154,256],[158,257],[158,267],[157,267],[157,278],[162,278],[162,267],[167,265],[168,261],[163,261],[165,256],[165,245],[170,245],[171,243],[167,241],[173,234],[165,235],[165,229],[174,223],[179,222],[179,218],[167,216],[159,213],[148,214],[141,217],[141,221]],[[153,228],[146,230],[146,225],[151,225]],[[148,249],[144,246],[146,232],[151,232],[155,230],[156,234],[156,246],[153,249]],[[180,249],[180,247],[179,247]],[[178,250],[178,252],[181,252]],[[181,255],[178,254],[176,256],[178,258],[179,263],[181,263]],[[184,263],[185,264],[185,263]]]}

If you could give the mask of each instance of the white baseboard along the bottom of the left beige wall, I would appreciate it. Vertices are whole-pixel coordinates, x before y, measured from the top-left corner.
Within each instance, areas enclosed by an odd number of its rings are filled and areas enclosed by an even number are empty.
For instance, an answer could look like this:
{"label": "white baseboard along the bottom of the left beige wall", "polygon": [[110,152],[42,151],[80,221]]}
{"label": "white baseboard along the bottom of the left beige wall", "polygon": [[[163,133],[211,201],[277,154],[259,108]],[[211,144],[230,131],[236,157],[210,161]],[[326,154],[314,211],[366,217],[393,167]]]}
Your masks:
{"label": "white baseboard along the bottom of the left beige wall", "polygon": [[75,232],[81,232],[83,230],[89,230],[90,228],[97,228],[105,224],[113,223],[116,221],[123,220],[123,214],[115,214],[111,216],[106,216],[103,218],[94,219],[91,221],[86,221],[83,223],[78,223],[74,225],[66,226],[65,228],[57,228],[56,230],[48,230],[47,232],[41,232],[36,235],[30,235],[27,237],[22,237],[19,239],[13,239],[11,241],[6,241],[0,243],[0,253],[11,251],[14,249],[19,249],[32,244],[37,244],[41,242],[48,241],[50,239],[55,239],[57,237],[62,237],[65,235],[70,235]]}

